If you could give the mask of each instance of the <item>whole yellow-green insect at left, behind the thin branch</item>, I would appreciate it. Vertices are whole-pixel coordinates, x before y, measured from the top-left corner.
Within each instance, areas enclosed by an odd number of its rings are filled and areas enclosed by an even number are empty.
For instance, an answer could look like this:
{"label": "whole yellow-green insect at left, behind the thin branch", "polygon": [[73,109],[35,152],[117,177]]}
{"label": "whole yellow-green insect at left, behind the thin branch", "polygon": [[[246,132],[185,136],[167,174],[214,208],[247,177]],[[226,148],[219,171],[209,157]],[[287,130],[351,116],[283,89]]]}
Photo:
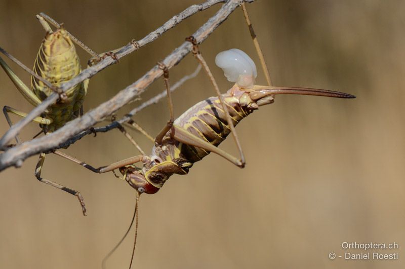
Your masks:
{"label": "whole yellow-green insect at left, behind the thin branch", "polygon": [[[41,47],[39,47],[33,70],[30,72],[32,75],[31,87],[25,85],[7,65],[7,63],[0,57],[0,66],[4,69],[23,97],[34,106],[41,104],[41,102],[54,93],[54,91],[58,91],[63,83],[76,77],[82,71],[73,42],[87,50],[91,55],[95,57],[97,56],[96,58],[98,58],[96,52],[72,36],[52,18],[43,13],[36,15],[36,18],[45,29],[46,35],[42,41]],[[47,21],[50,21],[58,29],[53,31]],[[0,48],[0,50],[18,65],[22,66],[25,70],[29,70],[22,63],[9,55],[9,53],[7,53],[4,49]],[[41,117],[36,117],[33,119],[33,122],[39,123],[39,126],[42,128],[42,132],[48,134],[61,128],[68,121],[82,115],[83,101],[86,96],[88,85],[89,79],[86,79],[82,83],[71,87],[63,93],[58,91],[58,93],[60,93],[60,99],[56,103],[48,106],[48,109],[44,111]],[[27,116],[26,113],[18,111],[7,105],[3,107],[3,113],[10,126],[13,125],[10,114],[20,117]],[[17,144],[21,142],[17,136],[15,139]],[[83,197],[79,192],[41,177],[45,155],[46,153],[43,152],[39,154],[39,159],[35,168],[36,179],[76,196],[80,202],[80,206],[82,206],[83,214],[86,215],[86,207]]]}

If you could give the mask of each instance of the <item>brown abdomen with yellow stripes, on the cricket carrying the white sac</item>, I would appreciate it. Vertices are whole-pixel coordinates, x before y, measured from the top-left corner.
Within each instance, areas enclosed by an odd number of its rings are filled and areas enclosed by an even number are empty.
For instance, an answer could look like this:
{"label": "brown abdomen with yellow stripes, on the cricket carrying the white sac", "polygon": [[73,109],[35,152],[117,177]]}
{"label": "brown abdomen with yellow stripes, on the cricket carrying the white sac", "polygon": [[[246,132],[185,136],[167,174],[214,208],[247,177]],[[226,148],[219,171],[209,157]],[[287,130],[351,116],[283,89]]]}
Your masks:
{"label": "brown abdomen with yellow stripes, on the cricket carrying the white sac", "polygon": [[[240,106],[238,98],[228,94],[223,94],[223,98],[234,126],[249,115],[250,112],[245,111]],[[214,146],[218,146],[230,133],[226,114],[218,97],[210,97],[198,102],[176,119],[174,124]],[[178,147],[180,148],[180,157],[191,162],[197,162],[210,153],[204,149],[184,144],[179,144]]]}

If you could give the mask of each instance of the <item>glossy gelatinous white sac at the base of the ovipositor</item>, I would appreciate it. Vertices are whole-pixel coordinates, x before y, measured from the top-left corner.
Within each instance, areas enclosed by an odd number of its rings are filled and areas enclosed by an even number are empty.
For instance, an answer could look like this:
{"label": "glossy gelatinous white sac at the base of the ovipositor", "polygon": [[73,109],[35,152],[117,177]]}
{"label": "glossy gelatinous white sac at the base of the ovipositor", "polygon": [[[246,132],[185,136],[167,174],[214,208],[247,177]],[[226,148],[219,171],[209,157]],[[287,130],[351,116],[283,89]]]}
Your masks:
{"label": "glossy gelatinous white sac at the base of the ovipositor", "polygon": [[255,85],[257,77],[256,65],[243,51],[231,48],[219,52],[215,57],[215,64],[222,68],[228,81],[236,82],[241,88],[250,88]]}

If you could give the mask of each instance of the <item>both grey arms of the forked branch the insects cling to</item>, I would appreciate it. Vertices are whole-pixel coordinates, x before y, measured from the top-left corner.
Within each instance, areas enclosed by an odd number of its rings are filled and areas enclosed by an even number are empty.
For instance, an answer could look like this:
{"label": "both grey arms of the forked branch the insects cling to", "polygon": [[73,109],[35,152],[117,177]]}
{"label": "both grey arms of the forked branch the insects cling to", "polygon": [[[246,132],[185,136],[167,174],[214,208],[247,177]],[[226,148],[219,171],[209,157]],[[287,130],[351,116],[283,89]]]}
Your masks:
{"label": "both grey arms of the forked branch the insects cling to", "polygon": [[[249,0],[247,2],[253,2],[254,0]],[[223,1],[207,1],[201,5],[194,5],[180,13],[179,15],[173,17],[163,26],[159,27],[157,30],[148,34],[143,39],[137,41],[139,46],[143,46],[148,42],[153,41],[158,36],[163,34],[168,29],[174,27],[181,20],[191,16],[192,14],[207,9],[214,4]],[[202,43],[222,22],[224,22],[227,17],[242,3],[244,0],[229,0],[226,2],[221,9],[211,17],[203,26],[201,26],[194,34],[194,38],[197,43]],[[128,55],[132,51],[139,48],[134,45],[135,42],[130,42],[125,47],[121,48],[116,52],[118,59]],[[170,55],[168,55],[163,61],[169,69],[177,65],[190,51],[192,50],[192,44],[190,42],[184,42],[181,46],[177,47]],[[90,78],[100,72],[102,69],[113,64],[115,60],[111,57],[106,57],[100,63],[84,70],[78,76],[72,80],[61,85],[62,90],[66,90],[73,85],[76,85],[87,78]],[[21,166],[24,159],[27,157],[37,154],[39,152],[50,152],[57,148],[59,145],[65,143],[73,136],[79,134],[80,132],[89,129],[94,124],[101,122],[106,117],[112,115],[125,104],[130,102],[132,99],[137,97],[139,94],[145,91],[153,81],[163,75],[163,71],[159,69],[156,65],[151,70],[149,70],[145,75],[138,79],[133,84],[129,85],[125,89],[118,92],[114,97],[108,101],[100,104],[96,109],[89,111],[83,117],[77,118],[73,121],[68,122],[64,127],[51,133],[47,136],[35,138],[31,141],[24,142],[15,147],[7,149],[5,152],[0,154],[0,171],[10,167],[10,166]],[[40,105],[33,109],[27,118],[21,120],[16,125],[13,126],[0,140],[0,147],[5,147],[8,141],[10,141],[21,128],[30,122],[34,117],[41,114],[50,104],[58,99],[58,94],[52,94],[46,100],[44,100]]]}

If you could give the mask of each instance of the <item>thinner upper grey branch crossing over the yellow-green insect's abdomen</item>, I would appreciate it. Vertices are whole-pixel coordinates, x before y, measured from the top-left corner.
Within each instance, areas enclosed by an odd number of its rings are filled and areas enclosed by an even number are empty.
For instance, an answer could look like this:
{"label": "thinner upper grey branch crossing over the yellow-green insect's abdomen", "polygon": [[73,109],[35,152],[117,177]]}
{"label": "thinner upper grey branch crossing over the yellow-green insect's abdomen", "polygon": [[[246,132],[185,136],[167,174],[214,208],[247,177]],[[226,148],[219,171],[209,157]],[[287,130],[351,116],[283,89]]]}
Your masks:
{"label": "thinner upper grey branch crossing over the yellow-green insect's abdomen", "polygon": [[[185,9],[184,11],[180,12],[178,15],[173,16],[164,25],[160,26],[155,31],[149,33],[144,38],[142,38],[138,41],[132,40],[126,46],[120,47],[118,49],[114,49],[114,51],[117,51],[115,53],[115,56],[116,56],[115,60],[111,56],[105,57],[98,64],[83,70],[80,74],[78,74],[73,79],[69,80],[66,83],[63,83],[59,88],[59,91],[58,91],[59,94],[62,92],[65,92],[66,90],[72,88],[73,86],[81,83],[82,81],[93,77],[94,75],[99,73],[104,68],[116,63],[117,60],[129,55],[131,52],[134,52],[135,50],[139,49],[140,47],[154,41],[159,36],[164,34],[166,31],[175,27],[177,24],[179,24],[183,20],[187,19],[191,15],[193,15],[199,11],[206,10],[206,9],[212,7],[213,5],[221,3],[221,2],[226,2],[226,1],[225,0],[208,0],[203,4],[192,5],[192,6],[188,7],[187,9]],[[241,2],[241,1],[239,1],[239,2]],[[16,124],[14,124],[0,139],[0,148],[4,149],[4,147],[7,145],[7,143],[9,143],[11,139],[13,139],[15,136],[17,136],[20,133],[21,129],[24,128],[24,126],[26,126],[28,123],[30,123],[35,117],[41,115],[41,113],[43,113],[47,109],[48,106],[55,103],[59,98],[59,94],[58,93],[51,94],[41,104],[37,105],[27,115],[27,117],[23,118],[22,120],[20,120]]]}

